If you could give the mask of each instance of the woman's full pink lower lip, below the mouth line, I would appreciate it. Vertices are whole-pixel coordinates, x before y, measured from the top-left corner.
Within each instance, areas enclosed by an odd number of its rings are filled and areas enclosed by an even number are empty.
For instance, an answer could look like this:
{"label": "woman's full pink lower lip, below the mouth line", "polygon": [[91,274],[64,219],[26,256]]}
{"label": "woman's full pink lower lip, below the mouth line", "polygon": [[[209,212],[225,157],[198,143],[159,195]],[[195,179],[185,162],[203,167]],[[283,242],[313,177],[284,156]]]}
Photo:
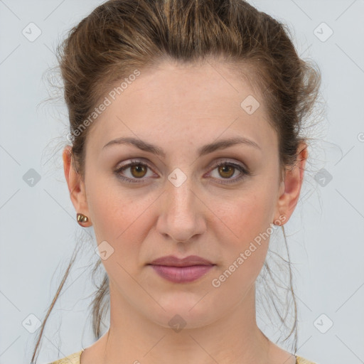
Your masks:
{"label": "woman's full pink lower lip, below the mouth line", "polygon": [[206,274],[213,265],[191,265],[189,267],[170,267],[167,265],[153,265],[151,267],[164,279],[174,283],[188,283]]}

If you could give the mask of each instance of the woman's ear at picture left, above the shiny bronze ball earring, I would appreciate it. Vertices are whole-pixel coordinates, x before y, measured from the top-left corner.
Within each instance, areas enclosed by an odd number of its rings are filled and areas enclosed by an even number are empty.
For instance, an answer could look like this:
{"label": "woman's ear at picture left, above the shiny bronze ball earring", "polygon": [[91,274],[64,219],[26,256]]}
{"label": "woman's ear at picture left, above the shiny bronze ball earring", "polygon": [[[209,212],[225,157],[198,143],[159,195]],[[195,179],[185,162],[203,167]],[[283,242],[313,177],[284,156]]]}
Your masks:
{"label": "woman's ear at picture left, above the shiny bronze ball earring", "polygon": [[63,170],[68,184],[68,191],[76,212],[87,216],[87,223],[82,223],[82,226],[87,227],[92,223],[87,205],[85,182],[82,181],[80,173],[75,171],[72,161],[72,147],[65,146],[65,149],[63,149]]}

